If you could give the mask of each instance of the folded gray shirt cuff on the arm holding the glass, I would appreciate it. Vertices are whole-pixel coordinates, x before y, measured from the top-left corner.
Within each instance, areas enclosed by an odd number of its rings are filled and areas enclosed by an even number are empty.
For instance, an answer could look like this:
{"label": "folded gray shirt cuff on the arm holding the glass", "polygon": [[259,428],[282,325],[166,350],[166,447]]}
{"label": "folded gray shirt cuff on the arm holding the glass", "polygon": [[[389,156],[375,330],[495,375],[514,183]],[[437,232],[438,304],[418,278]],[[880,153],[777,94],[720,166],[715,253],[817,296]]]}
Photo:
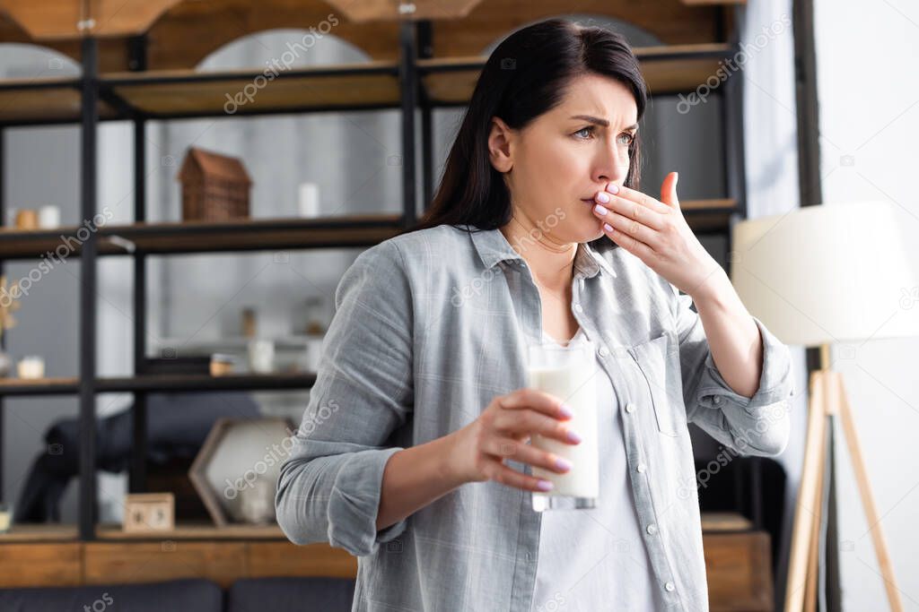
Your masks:
{"label": "folded gray shirt cuff on the arm holding the glass", "polygon": [[392,447],[358,451],[339,469],[329,496],[329,544],[363,557],[376,552],[380,542],[402,534],[405,518],[377,530],[383,470],[390,457],[402,450]]}

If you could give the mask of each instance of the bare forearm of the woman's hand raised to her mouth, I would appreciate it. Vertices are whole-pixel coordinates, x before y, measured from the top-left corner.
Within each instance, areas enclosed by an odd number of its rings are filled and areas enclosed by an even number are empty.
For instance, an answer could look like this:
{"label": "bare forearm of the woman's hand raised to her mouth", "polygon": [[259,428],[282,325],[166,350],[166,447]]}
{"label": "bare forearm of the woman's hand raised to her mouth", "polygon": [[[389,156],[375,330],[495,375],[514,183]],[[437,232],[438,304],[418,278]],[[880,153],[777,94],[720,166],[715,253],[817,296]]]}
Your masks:
{"label": "bare forearm of the woman's hand raised to her mouth", "polygon": [[737,394],[753,397],[763,369],[763,339],[731,279],[723,270],[712,274],[692,297],[724,382]]}

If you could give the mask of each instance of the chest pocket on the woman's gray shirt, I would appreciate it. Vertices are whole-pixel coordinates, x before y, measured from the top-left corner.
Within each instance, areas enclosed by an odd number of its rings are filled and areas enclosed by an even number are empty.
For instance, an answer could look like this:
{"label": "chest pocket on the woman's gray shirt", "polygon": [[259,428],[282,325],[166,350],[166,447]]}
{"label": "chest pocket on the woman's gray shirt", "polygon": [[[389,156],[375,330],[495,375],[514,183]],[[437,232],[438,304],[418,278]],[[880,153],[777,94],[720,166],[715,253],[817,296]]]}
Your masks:
{"label": "chest pocket on the woman's gray shirt", "polygon": [[628,349],[651,391],[657,430],[672,438],[686,431],[686,408],[675,341],[673,334],[663,332]]}

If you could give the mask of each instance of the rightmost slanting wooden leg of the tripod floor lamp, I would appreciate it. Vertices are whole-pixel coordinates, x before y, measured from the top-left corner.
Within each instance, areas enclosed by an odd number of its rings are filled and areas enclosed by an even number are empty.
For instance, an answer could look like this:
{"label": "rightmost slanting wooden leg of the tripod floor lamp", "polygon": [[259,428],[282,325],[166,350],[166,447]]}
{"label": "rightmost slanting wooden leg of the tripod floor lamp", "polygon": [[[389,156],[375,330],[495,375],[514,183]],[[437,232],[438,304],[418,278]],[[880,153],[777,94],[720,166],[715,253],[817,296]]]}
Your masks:
{"label": "rightmost slanting wooden leg of the tripod floor lamp", "polygon": [[856,473],[858,492],[862,498],[862,505],[865,506],[868,530],[871,533],[874,550],[878,553],[878,565],[880,575],[884,579],[884,588],[887,590],[887,599],[893,612],[902,612],[903,603],[900,598],[900,591],[897,589],[897,581],[893,575],[893,565],[891,564],[890,553],[887,551],[887,541],[884,540],[884,533],[880,529],[878,507],[875,506],[874,495],[871,494],[871,484],[868,481],[868,472],[865,470],[861,443],[858,441],[855,422],[852,419],[852,408],[849,406],[848,397],[845,395],[845,384],[843,384],[842,376],[836,376],[835,384],[839,395],[839,417],[842,419],[845,441],[852,457],[852,467]]}

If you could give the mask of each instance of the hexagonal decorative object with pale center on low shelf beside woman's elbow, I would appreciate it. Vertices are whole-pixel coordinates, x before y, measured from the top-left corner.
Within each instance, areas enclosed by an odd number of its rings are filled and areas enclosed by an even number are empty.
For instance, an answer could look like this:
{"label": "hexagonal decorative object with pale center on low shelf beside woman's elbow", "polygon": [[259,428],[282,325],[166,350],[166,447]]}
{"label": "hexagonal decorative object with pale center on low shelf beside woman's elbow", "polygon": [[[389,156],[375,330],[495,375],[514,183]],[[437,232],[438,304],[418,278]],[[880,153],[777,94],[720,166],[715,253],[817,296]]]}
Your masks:
{"label": "hexagonal decorative object with pale center on low shelf beside woman's elbow", "polygon": [[274,521],[280,464],[294,434],[287,418],[220,418],[188,478],[217,527]]}

